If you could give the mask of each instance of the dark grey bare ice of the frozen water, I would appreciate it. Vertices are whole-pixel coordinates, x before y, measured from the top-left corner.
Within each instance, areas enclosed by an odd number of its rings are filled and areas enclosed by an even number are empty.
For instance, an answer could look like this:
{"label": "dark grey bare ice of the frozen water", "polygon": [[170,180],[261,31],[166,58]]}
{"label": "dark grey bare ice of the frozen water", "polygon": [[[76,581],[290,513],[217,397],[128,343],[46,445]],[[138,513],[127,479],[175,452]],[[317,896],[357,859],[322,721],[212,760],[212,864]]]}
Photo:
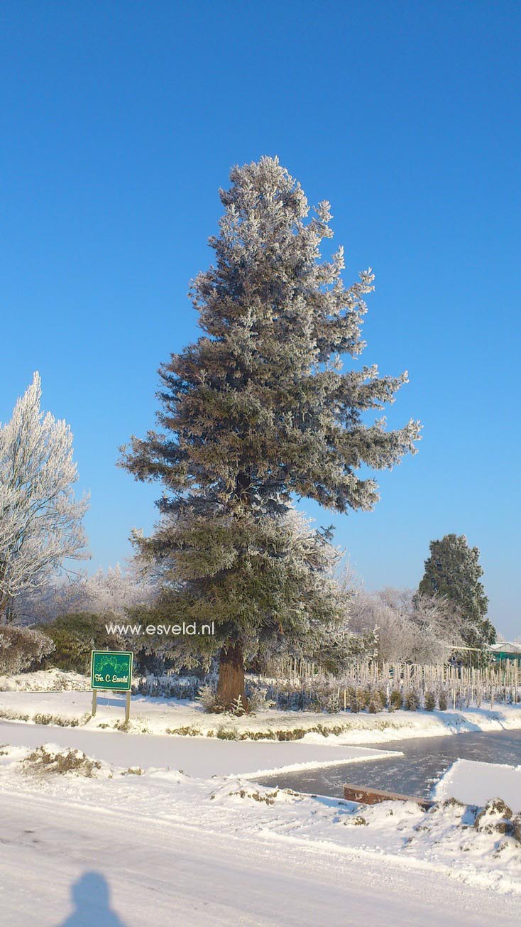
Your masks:
{"label": "dark grey bare ice of the frozen water", "polygon": [[297,792],[341,798],[344,782],[371,785],[388,792],[428,796],[432,785],[455,759],[485,763],[521,764],[521,730],[500,733],[453,734],[450,737],[422,737],[382,744],[401,750],[393,756],[361,764],[346,763],[323,769],[263,777],[265,785],[280,785]]}

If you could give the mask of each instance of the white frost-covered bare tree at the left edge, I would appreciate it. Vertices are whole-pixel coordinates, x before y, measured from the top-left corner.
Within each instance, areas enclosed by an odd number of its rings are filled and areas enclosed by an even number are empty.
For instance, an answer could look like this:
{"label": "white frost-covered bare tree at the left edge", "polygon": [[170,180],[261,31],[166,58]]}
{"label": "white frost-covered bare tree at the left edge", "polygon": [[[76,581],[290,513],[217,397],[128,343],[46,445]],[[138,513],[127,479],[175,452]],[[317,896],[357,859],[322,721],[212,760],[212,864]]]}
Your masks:
{"label": "white frost-covered bare tree at the left edge", "polygon": [[13,619],[22,591],[41,589],[65,560],[85,556],[88,502],[74,498],[70,426],[41,411],[41,395],[34,374],[0,426],[0,624]]}

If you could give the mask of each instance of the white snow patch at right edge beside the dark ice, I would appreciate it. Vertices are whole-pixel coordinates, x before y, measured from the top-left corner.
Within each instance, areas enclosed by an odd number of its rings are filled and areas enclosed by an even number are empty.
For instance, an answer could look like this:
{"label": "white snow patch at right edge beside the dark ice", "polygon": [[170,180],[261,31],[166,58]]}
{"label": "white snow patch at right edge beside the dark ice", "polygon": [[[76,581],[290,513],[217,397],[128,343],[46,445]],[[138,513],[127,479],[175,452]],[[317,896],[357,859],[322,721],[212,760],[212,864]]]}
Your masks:
{"label": "white snow patch at right edge beside the dark ice", "polygon": [[499,797],[515,813],[521,812],[521,766],[458,759],[435,786],[434,797],[478,806]]}

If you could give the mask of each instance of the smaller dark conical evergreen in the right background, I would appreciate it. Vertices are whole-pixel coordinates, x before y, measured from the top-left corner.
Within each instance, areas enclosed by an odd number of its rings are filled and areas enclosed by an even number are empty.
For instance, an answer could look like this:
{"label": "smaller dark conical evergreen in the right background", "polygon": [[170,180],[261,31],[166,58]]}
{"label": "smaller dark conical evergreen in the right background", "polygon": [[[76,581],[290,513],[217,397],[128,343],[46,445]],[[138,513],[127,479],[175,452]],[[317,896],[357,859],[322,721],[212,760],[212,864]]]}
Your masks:
{"label": "smaller dark conical evergreen in the right background", "polygon": [[487,618],[489,599],[480,582],[483,569],[479,550],[469,547],[464,535],[446,534],[431,540],[430,556],[418,587],[421,595],[447,598],[464,620],[463,637],[469,647],[482,647],[496,640],[496,631]]}

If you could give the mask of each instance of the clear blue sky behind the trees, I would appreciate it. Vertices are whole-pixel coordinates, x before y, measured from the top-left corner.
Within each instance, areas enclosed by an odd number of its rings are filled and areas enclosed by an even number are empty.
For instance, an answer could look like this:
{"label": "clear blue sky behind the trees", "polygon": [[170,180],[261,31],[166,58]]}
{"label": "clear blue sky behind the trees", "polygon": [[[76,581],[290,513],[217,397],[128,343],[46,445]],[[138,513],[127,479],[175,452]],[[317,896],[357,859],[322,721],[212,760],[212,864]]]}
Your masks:
{"label": "clear blue sky behind the trees", "polygon": [[364,360],[411,378],[389,424],[424,423],[374,513],[310,513],[370,589],[414,586],[429,540],[466,534],[520,633],[521,7],[6,0],[0,25],[0,420],[39,370],[92,495],[92,568],[155,517],[117,449],[197,337],[217,189],[278,154],[331,201],[346,279],[375,269]]}

